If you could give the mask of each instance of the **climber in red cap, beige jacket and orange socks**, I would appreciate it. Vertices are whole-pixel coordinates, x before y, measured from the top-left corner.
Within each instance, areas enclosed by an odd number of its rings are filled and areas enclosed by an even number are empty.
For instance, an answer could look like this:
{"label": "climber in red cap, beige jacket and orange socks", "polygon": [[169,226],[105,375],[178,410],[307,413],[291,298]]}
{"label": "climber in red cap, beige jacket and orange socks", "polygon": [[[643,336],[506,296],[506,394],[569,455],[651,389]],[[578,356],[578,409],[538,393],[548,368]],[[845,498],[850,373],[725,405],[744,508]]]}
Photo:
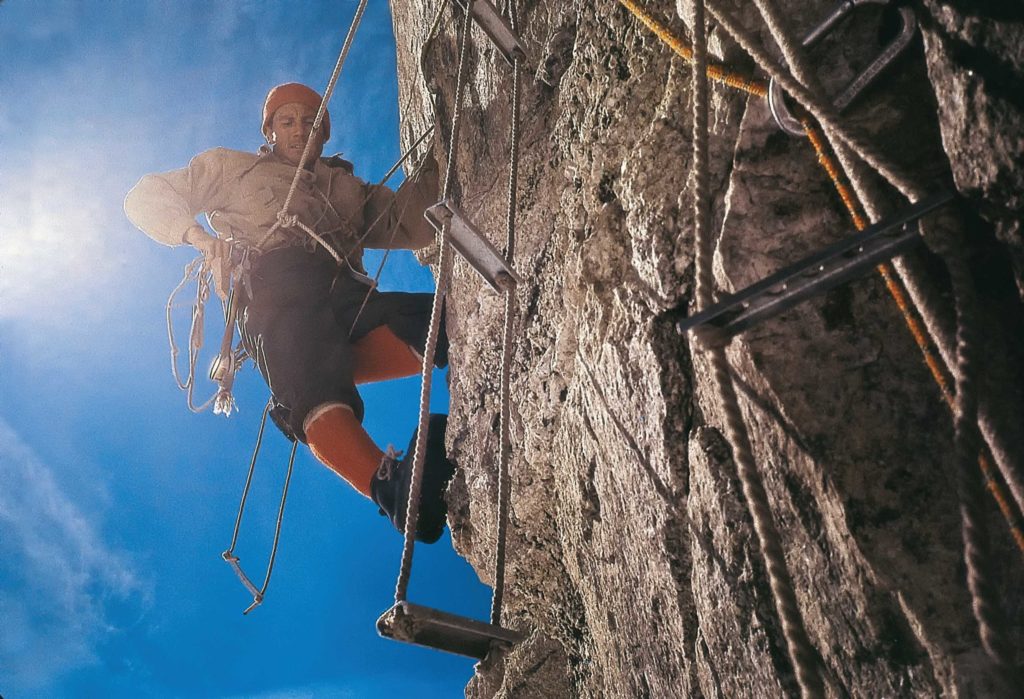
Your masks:
{"label": "climber in red cap, beige jacket and orange socks", "polygon": [[[331,135],[325,112],[289,203],[296,219],[283,216],[275,226],[319,104],[304,85],[274,87],[263,105],[266,144],[258,152],[213,148],[181,170],[146,175],[128,192],[125,213],[158,243],[193,246],[211,269],[247,261],[236,282],[236,317],[270,389],[274,423],[401,531],[416,435],[402,458],[378,448],[362,429],[355,385],[419,374],[432,295],[378,292],[364,271],[362,250],[433,242],[423,211],[437,199],[437,166],[428,156],[420,176],[397,192],[367,184],[347,161],[321,157]],[[200,213],[213,234],[197,222]],[[447,364],[443,322],[435,364]],[[416,532],[427,542],[445,523],[453,473],[445,425],[446,416],[431,416]]]}

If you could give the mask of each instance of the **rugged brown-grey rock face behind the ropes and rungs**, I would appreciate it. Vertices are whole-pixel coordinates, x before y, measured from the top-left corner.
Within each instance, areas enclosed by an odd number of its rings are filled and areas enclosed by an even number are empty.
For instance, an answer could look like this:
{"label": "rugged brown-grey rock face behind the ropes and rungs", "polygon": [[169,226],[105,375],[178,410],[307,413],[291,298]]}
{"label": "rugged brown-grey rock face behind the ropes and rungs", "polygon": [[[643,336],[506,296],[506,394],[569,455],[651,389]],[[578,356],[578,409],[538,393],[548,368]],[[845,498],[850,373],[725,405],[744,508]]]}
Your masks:
{"label": "rugged brown-grey rock face behind the ropes and rungs", "polygon": [[[689,68],[612,0],[517,4],[529,60],[504,623],[528,639],[481,664],[467,696],[796,696],[709,368],[675,330],[692,310]],[[794,4],[798,34],[830,7]],[[436,115],[446,139],[461,10],[391,5],[402,138]],[[688,33],[670,3],[646,6]],[[1019,451],[1024,92],[1006,76],[1020,85],[1024,42],[1014,39],[1014,17],[956,6],[924,10],[925,42],[845,119],[929,189],[955,182],[970,198],[979,321],[995,343],[987,386]],[[753,6],[736,7],[748,27],[760,26]],[[878,27],[890,24],[879,9],[857,17],[813,53],[826,90],[866,64]],[[471,39],[455,191],[501,247],[511,69],[478,29]],[[711,44],[756,75],[720,29]],[[972,63],[964,46],[998,59]],[[721,291],[852,229],[810,145],[781,133],[763,99],[714,85],[711,108]],[[898,198],[879,191],[897,211]],[[907,257],[946,293],[936,258]],[[458,260],[447,309],[449,449],[459,467],[450,520],[458,550],[490,582],[504,304]],[[873,276],[834,290],[728,352],[828,695],[992,696],[965,582],[949,410],[884,283]],[[1018,648],[1021,552],[985,505]]]}

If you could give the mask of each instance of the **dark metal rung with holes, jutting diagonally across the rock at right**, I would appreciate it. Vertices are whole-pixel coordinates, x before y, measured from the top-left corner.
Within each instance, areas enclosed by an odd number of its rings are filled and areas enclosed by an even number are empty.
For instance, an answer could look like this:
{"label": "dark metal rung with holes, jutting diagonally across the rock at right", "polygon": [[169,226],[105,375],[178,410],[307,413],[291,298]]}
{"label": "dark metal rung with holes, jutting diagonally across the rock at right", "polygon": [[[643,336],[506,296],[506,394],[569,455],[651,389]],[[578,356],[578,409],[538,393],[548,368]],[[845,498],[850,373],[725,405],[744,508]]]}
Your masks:
{"label": "dark metal rung with holes, jutting diagonally across the rock at right", "polygon": [[921,239],[918,219],[952,200],[950,192],[930,196],[899,216],[880,221],[856,235],[783,267],[707,310],[683,318],[678,323],[679,332],[711,325],[717,329],[720,339],[731,338],[805,299],[860,276],[915,245]]}

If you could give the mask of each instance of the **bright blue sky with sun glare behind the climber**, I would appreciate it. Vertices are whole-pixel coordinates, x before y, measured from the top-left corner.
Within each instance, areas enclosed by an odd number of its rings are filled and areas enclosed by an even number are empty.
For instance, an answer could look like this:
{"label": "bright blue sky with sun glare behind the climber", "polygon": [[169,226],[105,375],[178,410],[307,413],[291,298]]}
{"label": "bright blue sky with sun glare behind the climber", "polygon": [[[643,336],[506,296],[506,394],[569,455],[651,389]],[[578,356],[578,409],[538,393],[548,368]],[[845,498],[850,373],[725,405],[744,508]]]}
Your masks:
{"label": "bright blue sky with sun glare behind the climber", "polygon": [[[122,213],[142,174],[208,147],[257,147],[270,86],[322,90],[355,4],[0,3],[6,699],[450,697],[472,674],[470,660],[377,638],[400,537],[304,449],[267,600],[242,615],[250,598],[220,552],[266,389],[248,367],[240,413],[185,409],[163,313],[191,253],[152,243]],[[369,180],[398,156],[387,12],[370,3],[326,148]],[[432,287],[411,255],[392,260],[386,288]],[[176,310],[182,341],[187,314]],[[216,319],[214,305],[209,315]],[[203,366],[219,340],[212,321],[207,339]],[[380,444],[404,448],[418,392],[416,379],[365,388],[367,427]],[[237,552],[254,575],[269,550],[287,450],[268,433]],[[445,534],[417,549],[411,599],[483,618],[489,589]]]}

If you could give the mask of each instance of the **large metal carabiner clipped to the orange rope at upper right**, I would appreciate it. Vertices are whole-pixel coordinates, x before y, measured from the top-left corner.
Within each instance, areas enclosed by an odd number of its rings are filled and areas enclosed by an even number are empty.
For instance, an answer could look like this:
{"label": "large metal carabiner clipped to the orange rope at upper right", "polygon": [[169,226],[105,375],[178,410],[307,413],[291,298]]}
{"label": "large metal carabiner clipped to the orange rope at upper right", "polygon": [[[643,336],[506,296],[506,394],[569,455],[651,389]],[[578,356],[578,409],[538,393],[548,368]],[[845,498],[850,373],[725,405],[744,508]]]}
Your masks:
{"label": "large metal carabiner clipped to the orange rope at upper right", "polygon": [[[888,5],[889,3],[890,0],[843,0],[843,2],[828,13],[828,16],[811,30],[810,34],[804,37],[801,43],[804,48],[811,48],[826,37],[843,17],[861,5]],[[906,6],[900,7],[899,18],[900,31],[896,35],[896,38],[889,42],[882,49],[882,52],[874,57],[874,60],[860,75],[854,78],[833,101],[837,112],[842,113],[846,110],[910,45],[910,40],[913,39],[913,34],[918,29],[918,21],[913,16],[913,10]],[[768,83],[768,106],[771,110],[772,118],[778,124],[778,128],[791,136],[806,135],[803,125],[785,105],[782,90],[774,78]]]}

